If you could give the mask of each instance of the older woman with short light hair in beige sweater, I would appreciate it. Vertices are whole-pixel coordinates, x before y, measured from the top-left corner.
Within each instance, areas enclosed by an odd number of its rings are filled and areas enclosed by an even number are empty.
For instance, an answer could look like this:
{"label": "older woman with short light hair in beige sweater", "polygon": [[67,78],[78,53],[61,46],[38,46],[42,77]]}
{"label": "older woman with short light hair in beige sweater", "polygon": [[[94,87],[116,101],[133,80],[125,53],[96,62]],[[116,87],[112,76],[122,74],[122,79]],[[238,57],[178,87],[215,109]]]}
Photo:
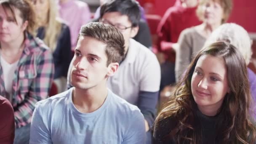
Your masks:
{"label": "older woman with short light hair in beige sweater", "polygon": [[232,0],[200,0],[197,16],[203,21],[195,27],[184,29],[179,36],[176,51],[175,77],[179,81],[193,57],[203,48],[211,32],[225,23],[232,10]]}

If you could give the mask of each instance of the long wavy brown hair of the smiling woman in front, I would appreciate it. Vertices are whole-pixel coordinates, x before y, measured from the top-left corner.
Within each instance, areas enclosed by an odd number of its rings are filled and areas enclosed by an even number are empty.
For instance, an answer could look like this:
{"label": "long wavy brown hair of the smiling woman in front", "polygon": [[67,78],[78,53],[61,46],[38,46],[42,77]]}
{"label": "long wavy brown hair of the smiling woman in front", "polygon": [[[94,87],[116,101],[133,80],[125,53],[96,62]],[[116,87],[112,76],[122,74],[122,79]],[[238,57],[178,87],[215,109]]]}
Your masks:
{"label": "long wavy brown hair of the smiling woman in front", "polygon": [[219,109],[221,119],[216,126],[218,134],[215,140],[221,144],[254,144],[256,128],[249,115],[251,93],[247,67],[237,48],[225,42],[213,43],[203,48],[189,65],[183,79],[176,85],[173,96],[155,120],[155,125],[165,119],[173,120],[171,123],[177,124],[163,139],[173,139],[178,144],[202,143],[200,123],[195,116],[197,104],[192,96],[191,79],[197,61],[203,55],[224,59],[230,88]]}

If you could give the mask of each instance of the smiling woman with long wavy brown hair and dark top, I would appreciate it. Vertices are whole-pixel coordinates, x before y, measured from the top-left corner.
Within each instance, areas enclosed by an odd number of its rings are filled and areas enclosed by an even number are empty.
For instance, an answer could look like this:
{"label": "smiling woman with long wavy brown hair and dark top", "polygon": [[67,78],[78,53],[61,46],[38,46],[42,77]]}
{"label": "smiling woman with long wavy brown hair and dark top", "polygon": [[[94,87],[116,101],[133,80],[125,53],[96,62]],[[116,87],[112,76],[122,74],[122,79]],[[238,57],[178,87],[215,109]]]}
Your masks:
{"label": "smiling woman with long wavy brown hair and dark top", "polygon": [[154,125],[155,144],[254,144],[247,67],[233,45],[203,48]]}

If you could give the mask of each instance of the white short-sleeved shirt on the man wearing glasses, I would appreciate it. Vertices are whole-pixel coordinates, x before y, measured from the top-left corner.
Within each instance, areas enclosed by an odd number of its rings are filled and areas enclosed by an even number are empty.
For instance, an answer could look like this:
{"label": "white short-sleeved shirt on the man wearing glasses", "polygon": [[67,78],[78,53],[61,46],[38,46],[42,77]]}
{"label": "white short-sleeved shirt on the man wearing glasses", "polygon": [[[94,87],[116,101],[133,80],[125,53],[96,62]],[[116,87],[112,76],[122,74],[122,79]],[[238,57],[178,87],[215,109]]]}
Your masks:
{"label": "white short-sleeved shirt on the man wearing glasses", "polygon": [[160,64],[152,51],[130,39],[127,56],[107,86],[118,96],[137,105],[139,91],[157,92],[160,87]]}

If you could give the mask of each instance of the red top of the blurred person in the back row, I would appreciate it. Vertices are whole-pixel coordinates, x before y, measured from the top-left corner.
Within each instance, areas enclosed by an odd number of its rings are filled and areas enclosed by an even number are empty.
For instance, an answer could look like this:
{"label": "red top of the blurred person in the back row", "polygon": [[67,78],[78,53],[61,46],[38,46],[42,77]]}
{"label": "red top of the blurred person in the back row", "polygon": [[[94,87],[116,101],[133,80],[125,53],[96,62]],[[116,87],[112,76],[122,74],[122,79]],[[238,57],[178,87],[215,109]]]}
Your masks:
{"label": "red top of the blurred person in the back row", "polygon": [[196,16],[196,9],[197,7],[184,8],[180,4],[167,9],[157,27],[158,51],[164,51],[169,55],[167,52],[170,52],[171,48],[161,47],[161,42],[177,43],[182,30],[202,23]]}

